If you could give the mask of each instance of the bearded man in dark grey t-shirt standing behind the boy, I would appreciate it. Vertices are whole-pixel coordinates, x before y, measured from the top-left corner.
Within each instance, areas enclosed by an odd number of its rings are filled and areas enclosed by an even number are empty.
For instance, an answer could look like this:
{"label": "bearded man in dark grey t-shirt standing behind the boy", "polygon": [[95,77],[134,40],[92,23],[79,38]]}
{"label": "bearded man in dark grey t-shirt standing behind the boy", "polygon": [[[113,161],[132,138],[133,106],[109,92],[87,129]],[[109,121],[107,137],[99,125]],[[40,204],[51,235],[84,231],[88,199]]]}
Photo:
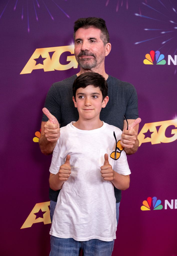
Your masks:
{"label": "bearded man in dark grey t-shirt standing behind the boy", "polygon": [[[71,121],[78,120],[78,113],[72,102],[72,84],[77,76],[90,71],[101,74],[108,83],[109,102],[107,108],[101,110],[100,119],[123,130],[121,145],[124,147],[126,154],[135,153],[139,145],[137,135],[139,122],[141,121],[141,119],[137,119],[137,94],[131,84],[108,76],[105,72],[105,57],[111,50],[105,21],[101,18],[78,19],[74,25],[74,40],[75,57],[79,63],[80,71],[70,78],[54,83],[47,94],[45,102],[47,109],[43,109],[47,117],[43,115],[39,140],[41,152],[46,155],[51,154],[60,136],[60,125],[61,127],[66,126]],[[65,96],[62,97],[62,95]],[[127,125],[124,115],[128,120],[129,130],[126,130]],[[114,188],[114,192],[118,222],[121,191]],[[58,193],[58,191],[50,189],[51,218],[53,217]]]}

